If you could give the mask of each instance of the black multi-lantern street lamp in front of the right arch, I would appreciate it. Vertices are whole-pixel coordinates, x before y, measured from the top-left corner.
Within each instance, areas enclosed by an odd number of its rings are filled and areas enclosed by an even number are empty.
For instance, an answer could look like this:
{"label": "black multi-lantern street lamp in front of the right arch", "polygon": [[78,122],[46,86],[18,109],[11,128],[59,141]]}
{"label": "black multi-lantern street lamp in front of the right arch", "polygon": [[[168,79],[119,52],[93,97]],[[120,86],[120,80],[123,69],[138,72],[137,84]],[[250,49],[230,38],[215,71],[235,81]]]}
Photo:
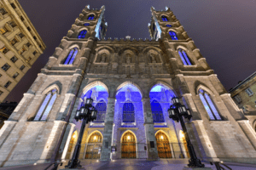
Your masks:
{"label": "black multi-lantern street lamp in front of the right arch", "polygon": [[187,128],[183,121],[183,116],[184,118],[188,118],[189,120],[191,119],[192,116],[189,109],[186,109],[184,105],[181,105],[181,103],[179,103],[178,101],[178,98],[172,98],[172,105],[168,110],[168,114],[169,114],[169,117],[172,118],[174,121],[177,121],[177,122],[180,121],[180,124],[183,127],[183,132],[184,132],[185,139],[187,141],[187,146],[188,146],[189,155],[190,155],[188,167],[205,167],[205,165],[201,164],[200,159],[198,159],[195,155],[194,147],[190,142]]}

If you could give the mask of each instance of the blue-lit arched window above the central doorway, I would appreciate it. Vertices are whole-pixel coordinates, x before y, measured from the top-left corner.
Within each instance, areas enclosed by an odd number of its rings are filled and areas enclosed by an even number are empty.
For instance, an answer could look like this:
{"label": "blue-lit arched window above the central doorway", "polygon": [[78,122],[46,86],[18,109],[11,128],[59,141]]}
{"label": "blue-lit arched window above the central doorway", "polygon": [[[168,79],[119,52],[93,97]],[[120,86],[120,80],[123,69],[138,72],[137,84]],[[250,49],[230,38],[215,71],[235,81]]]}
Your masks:
{"label": "blue-lit arched window above the central doorway", "polygon": [[135,122],[134,105],[131,101],[125,102],[123,107],[123,122]]}

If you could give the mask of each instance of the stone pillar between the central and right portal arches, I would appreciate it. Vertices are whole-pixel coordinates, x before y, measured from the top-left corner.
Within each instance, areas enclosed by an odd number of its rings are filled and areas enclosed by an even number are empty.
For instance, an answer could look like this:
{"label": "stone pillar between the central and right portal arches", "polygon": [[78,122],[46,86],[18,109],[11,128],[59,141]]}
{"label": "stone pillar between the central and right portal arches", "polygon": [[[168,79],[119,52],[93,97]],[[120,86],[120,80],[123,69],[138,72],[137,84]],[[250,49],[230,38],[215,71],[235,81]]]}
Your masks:
{"label": "stone pillar between the central and right portal arches", "polygon": [[158,160],[158,151],[156,146],[156,140],[154,136],[154,122],[152,117],[151,105],[149,98],[143,98],[143,115],[144,115],[144,127],[148,150],[148,160]]}

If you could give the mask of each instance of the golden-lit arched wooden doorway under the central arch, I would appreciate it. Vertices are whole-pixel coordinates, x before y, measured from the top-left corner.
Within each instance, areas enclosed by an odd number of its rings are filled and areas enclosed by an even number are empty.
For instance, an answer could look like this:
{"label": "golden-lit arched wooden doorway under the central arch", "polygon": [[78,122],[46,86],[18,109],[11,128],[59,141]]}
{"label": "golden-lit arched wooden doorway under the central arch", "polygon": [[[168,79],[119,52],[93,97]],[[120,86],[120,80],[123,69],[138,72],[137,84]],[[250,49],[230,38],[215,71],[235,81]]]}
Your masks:
{"label": "golden-lit arched wooden doorway under the central arch", "polygon": [[136,139],[133,133],[124,134],[121,143],[122,158],[136,158]]}

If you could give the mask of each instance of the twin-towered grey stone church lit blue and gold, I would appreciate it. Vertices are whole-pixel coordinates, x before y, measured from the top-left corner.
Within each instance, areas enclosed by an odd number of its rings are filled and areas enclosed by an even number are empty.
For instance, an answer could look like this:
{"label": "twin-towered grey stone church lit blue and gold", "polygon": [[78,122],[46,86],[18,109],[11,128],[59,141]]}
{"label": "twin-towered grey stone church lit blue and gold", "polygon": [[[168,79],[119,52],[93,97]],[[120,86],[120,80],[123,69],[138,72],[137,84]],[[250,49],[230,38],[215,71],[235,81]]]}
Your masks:
{"label": "twin-towered grey stone church lit blue and gold", "polygon": [[176,96],[202,160],[254,162],[256,134],[170,8],[151,8],[148,39],[108,39],[105,7],[86,6],[0,131],[0,167],[68,161],[79,136],[76,111],[92,98],[79,159],[189,157]]}

